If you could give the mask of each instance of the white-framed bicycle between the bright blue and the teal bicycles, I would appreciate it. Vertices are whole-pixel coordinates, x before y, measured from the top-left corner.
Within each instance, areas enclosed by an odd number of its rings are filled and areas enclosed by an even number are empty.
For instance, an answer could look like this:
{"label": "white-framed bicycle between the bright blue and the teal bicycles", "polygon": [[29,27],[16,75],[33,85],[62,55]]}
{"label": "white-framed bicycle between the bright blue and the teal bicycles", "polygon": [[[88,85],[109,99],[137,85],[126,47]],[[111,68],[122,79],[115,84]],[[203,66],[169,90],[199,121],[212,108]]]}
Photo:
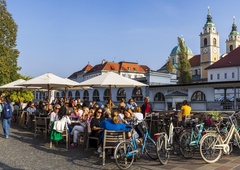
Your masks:
{"label": "white-framed bicycle between the bright blue and the teal bicycles", "polygon": [[[182,131],[182,127],[174,127],[173,126],[173,117],[175,115],[169,115],[169,134],[166,132],[156,133],[154,134],[154,138],[157,139],[156,148],[157,148],[157,156],[162,165],[168,163],[170,158],[170,151],[176,151],[176,148],[179,147],[179,141],[177,140]],[[174,130],[175,129],[175,130]],[[174,135],[175,134],[175,135]]]}

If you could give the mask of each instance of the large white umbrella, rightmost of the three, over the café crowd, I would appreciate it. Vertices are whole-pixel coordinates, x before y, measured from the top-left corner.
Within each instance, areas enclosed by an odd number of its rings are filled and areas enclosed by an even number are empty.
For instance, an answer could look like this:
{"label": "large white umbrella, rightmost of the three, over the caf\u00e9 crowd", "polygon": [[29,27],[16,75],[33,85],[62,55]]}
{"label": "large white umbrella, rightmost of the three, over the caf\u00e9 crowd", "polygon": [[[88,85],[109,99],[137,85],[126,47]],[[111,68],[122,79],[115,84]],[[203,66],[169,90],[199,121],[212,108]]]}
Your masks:
{"label": "large white umbrella, rightmost of the three, over the caf\u00e9 crowd", "polygon": [[90,87],[109,87],[110,97],[112,98],[111,87],[141,87],[147,86],[144,83],[132,80],[130,78],[123,77],[114,72],[107,72],[102,75],[96,76],[89,80],[79,83],[81,86]]}

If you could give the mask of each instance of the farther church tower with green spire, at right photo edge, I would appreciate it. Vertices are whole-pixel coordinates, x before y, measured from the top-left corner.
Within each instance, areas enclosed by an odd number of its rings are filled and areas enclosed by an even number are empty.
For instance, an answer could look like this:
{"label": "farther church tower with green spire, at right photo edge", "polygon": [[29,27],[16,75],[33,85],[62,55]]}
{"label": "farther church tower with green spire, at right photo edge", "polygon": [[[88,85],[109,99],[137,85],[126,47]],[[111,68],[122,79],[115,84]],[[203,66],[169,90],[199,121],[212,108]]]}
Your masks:
{"label": "farther church tower with green spire, at right photo edge", "polygon": [[233,17],[232,31],[228,35],[226,40],[226,53],[236,49],[240,45],[240,34],[237,31],[237,25],[235,22],[235,17]]}

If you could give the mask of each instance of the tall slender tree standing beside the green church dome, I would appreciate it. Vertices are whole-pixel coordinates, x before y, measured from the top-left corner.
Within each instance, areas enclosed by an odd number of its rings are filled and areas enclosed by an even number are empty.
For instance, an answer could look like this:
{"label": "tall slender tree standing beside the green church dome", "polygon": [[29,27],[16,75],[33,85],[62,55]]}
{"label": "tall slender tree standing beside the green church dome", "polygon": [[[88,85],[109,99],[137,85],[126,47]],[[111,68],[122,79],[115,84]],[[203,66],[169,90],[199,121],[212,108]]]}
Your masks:
{"label": "tall slender tree standing beside the green church dome", "polygon": [[185,46],[184,40],[178,37],[180,45],[180,52],[178,53],[178,71],[179,71],[179,83],[187,84],[192,82],[192,75],[190,73],[190,63],[188,60],[188,49]]}

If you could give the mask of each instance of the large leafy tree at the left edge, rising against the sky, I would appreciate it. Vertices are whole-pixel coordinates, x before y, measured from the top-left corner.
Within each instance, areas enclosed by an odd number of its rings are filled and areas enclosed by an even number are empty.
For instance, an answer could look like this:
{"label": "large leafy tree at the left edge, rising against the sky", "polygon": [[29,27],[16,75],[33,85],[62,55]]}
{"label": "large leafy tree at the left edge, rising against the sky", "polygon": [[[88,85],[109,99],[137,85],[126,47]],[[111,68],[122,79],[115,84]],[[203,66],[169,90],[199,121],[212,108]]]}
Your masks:
{"label": "large leafy tree at the left edge, rising against the sky", "polygon": [[17,25],[7,11],[5,0],[0,0],[0,85],[19,79],[16,49]]}

